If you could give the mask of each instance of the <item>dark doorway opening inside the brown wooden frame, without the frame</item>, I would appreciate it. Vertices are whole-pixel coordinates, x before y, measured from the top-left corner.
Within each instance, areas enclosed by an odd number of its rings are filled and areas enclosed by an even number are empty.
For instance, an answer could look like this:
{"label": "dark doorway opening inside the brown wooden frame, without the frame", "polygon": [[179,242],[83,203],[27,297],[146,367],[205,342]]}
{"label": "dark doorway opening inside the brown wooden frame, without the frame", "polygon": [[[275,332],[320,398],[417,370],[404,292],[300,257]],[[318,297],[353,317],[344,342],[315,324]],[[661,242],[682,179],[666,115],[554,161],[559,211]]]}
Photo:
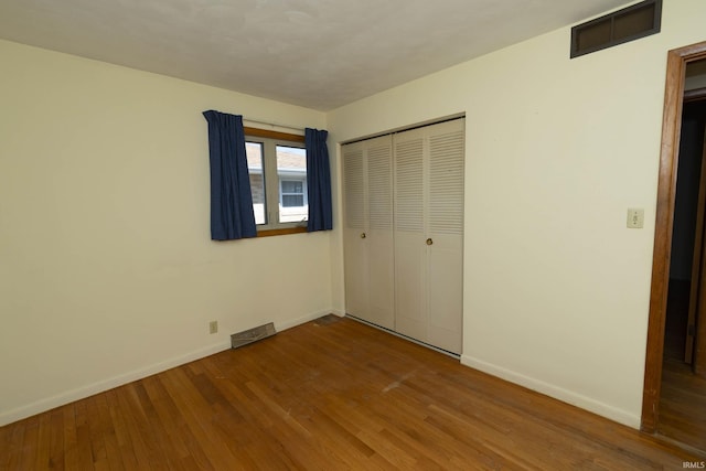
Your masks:
{"label": "dark doorway opening inside the brown wooden frame, without the frame", "polygon": [[681,126],[657,431],[706,450],[706,99],[685,100]]}

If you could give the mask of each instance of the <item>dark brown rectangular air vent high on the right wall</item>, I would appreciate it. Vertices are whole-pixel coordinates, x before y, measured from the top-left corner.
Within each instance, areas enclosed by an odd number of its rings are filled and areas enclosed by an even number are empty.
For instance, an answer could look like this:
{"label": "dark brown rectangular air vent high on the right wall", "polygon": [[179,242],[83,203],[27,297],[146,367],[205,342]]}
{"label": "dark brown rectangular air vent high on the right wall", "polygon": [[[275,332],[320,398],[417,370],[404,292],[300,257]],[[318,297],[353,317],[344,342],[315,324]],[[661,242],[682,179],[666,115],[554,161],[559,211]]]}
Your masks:
{"label": "dark brown rectangular air vent high on the right wall", "polygon": [[662,0],[645,0],[571,28],[571,58],[660,32]]}

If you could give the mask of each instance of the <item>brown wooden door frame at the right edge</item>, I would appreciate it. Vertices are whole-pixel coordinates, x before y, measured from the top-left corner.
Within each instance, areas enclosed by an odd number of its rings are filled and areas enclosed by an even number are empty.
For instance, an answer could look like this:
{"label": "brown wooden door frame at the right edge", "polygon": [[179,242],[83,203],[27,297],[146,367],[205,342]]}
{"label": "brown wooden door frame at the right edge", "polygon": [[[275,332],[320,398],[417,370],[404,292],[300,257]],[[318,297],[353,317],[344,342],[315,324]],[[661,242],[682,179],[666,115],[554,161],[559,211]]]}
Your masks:
{"label": "brown wooden door frame at the right edge", "polygon": [[684,77],[686,64],[703,58],[706,58],[706,42],[675,49],[667,53],[652,259],[652,286],[650,290],[650,318],[648,323],[644,388],[642,393],[641,429],[649,433],[656,432],[660,418],[664,322],[666,319],[666,297],[670,282]]}

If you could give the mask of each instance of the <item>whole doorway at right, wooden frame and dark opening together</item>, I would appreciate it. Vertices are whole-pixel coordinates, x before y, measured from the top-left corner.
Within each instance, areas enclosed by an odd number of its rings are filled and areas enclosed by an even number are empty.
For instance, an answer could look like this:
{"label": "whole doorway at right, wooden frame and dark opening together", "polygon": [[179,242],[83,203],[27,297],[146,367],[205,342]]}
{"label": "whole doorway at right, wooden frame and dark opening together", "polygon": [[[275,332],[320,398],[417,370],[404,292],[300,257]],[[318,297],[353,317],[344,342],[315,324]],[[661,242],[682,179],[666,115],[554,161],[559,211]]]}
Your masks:
{"label": "whole doorway at right, wooden frame and dark opening together", "polygon": [[698,335],[706,319],[706,100],[691,92],[685,99],[687,71],[702,63],[706,42],[667,56],[641,428],[706,451],[698,417],[706,378],[697,374],[706,367],[706,335]]}

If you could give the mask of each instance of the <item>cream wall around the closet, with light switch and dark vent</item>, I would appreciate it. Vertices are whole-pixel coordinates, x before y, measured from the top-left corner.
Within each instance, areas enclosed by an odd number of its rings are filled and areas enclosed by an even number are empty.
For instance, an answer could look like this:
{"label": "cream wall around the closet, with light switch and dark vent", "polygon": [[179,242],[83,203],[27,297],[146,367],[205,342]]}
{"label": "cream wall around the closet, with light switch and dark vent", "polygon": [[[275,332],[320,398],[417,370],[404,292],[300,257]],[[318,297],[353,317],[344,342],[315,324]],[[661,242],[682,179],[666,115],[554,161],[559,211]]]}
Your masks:
{"label": "cream wall around the closet, with light switch and dark vent", "polygon": [[704,19],[665,0],[657,35],[569,60],[564,28],[328,115],[344,141],[466,113],[464,364],[639,426],[666,53]]}

